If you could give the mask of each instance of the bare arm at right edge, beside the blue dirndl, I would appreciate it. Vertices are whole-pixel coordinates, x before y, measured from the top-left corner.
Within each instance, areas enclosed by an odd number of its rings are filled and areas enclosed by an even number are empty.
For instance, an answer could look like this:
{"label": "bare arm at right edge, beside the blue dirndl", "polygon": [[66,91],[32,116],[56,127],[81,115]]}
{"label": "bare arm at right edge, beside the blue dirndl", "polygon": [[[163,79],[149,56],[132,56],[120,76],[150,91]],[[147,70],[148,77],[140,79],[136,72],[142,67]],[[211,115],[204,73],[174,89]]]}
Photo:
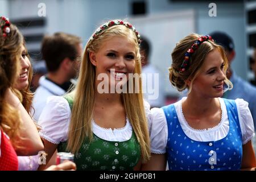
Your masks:
{"label": "bare arm at right edge, beside the blue dirndl", "polygon": [[243,145],[242,167],[241,170],[255,170],[256,160],[251,141]]}

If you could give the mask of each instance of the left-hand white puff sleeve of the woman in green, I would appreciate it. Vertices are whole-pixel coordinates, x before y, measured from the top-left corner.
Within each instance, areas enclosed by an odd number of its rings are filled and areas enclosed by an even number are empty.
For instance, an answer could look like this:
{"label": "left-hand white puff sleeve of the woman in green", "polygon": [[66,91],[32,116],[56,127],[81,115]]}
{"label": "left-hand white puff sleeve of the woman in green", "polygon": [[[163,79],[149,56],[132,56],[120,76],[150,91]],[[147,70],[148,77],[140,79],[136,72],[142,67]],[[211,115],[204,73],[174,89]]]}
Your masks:
{"label": "left-hand white puff sleeve of the woman in green", "polygon": [[51,96],[47,99],[38,124],[42,127],[40,137],[59,144],[68,138],[71,109],[64,97]]}

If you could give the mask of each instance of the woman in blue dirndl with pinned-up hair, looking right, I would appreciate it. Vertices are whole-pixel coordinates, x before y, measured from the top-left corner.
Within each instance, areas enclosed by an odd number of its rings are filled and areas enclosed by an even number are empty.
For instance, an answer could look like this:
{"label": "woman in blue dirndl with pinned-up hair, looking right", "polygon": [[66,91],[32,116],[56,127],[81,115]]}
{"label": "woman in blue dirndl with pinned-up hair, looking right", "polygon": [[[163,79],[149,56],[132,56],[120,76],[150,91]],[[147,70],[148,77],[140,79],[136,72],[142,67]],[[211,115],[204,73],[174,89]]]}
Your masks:
{"label": "woman in blue dirndl with pinned-up hair, looking right", "polygon": [[177,43],[169,69],[171,84],[187,97],[151,109],[152,157],[143,169],[240,170],[256,166],[253,119],[242,99],[221,98],[232,83],[228,60],[211,36],[191,34]]}

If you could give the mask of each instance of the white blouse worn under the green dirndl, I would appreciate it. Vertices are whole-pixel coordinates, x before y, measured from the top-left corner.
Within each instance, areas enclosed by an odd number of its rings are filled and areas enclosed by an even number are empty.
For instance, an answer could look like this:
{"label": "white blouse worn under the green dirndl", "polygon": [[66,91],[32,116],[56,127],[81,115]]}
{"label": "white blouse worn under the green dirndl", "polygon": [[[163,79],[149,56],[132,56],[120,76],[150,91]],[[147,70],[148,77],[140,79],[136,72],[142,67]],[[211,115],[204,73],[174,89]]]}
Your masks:
{"label": "white blouse worn under the green dirndl", "polygon": [[[144,101],[146,115],[150,114],[150,105]],[[148,117],[147,117],[148,118]],[[38,124],[42,126],[40,137],[51,143],[59,144],[68,139],[68,127],[71,119],[71,109],[68,101],[63,97],[48,97],[47,104],[39,117]],[[132,135],[133,127],[126,118],[125,127],[118,129],[105,129],[92,121],[92,131],[97,137],[114,142],[124,142]]]}

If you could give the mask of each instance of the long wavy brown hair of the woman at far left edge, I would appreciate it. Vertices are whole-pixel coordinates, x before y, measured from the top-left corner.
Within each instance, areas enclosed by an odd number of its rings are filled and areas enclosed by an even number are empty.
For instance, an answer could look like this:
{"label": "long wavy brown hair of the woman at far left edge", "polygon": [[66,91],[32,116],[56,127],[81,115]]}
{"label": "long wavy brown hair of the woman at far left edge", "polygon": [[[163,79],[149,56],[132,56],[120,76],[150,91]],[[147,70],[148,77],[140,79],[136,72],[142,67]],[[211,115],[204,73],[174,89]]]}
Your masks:
{"label": "long wavy brown hair of the woman at far left edge", "polygon": [[19,137],[19,112],[5,101],[5,94],[7,89],[13,88],[19,73],[23,36],[18,28],[11,24],[10,33],[4,37],[4,24],[5,22],[0,19],[0,127],[9,135],[13,146],[18,147],[18,142],[14,138]]}

